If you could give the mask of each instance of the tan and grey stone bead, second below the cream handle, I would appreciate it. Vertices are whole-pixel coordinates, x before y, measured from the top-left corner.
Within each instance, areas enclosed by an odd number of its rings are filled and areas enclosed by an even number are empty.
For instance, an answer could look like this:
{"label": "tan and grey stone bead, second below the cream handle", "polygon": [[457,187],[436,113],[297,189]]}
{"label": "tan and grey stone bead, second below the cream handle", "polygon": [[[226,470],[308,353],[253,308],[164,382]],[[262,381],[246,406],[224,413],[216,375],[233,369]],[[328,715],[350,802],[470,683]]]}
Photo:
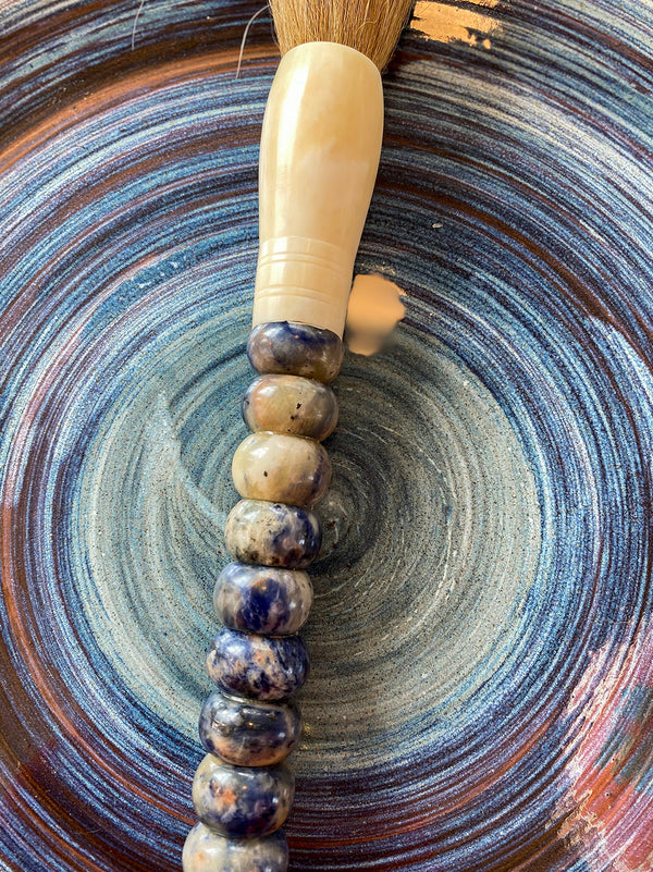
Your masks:
{"label": "tan and grey stone bead, second below the cream handle", "polygon": [[243,419],[254,432],[269,430],[321,442],[337,423],[337,401],[325,384],[297,376],[262,376],[243,400]]}

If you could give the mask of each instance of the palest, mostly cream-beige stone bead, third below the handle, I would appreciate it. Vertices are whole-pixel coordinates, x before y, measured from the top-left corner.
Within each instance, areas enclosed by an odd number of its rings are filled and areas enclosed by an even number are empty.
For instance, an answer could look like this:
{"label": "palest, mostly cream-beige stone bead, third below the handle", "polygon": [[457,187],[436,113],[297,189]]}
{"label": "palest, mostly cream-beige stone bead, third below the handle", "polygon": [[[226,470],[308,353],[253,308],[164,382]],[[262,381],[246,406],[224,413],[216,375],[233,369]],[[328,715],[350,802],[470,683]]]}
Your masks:
{"label": "palest, mostly cream-beige stone bead, third below the handle", "polygon": [[331,482],[331,462],[315,439],[251,433],[235,451],[232,478],[246,500],[313,506]]}

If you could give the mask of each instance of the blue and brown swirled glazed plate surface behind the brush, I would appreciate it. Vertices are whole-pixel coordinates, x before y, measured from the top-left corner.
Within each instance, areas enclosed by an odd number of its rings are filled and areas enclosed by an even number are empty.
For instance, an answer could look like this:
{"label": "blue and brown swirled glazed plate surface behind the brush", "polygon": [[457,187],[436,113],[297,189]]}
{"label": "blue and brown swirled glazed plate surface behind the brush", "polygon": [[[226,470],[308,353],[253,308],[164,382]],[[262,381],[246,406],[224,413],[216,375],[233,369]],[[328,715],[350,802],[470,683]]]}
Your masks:
{"label": "blue and brown swirled glazed plate surface behind the brush", "polygon": [[[0,19],[10,872],[181,868],[251,378],[257,5],[146,3],[134,49],[125,3]],[[336,382],[296,872],[653,868],[653,15],[492,15],[386,74],[358,269],[408,314]]]}

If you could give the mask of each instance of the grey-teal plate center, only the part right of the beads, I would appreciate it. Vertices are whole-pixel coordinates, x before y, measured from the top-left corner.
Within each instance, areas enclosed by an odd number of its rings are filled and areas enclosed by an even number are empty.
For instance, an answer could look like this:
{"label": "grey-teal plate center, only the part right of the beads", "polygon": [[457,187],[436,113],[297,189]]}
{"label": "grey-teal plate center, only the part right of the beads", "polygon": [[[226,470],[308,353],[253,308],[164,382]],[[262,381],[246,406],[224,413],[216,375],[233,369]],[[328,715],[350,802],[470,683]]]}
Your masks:
{"label": "grey-teal plate center, only the part right of the beads", "polygon": [[513,427],[443,344],[403,326],[392,352],[350,357],[336,390],[299,771],[419,752],[482,713],[541,546]]}

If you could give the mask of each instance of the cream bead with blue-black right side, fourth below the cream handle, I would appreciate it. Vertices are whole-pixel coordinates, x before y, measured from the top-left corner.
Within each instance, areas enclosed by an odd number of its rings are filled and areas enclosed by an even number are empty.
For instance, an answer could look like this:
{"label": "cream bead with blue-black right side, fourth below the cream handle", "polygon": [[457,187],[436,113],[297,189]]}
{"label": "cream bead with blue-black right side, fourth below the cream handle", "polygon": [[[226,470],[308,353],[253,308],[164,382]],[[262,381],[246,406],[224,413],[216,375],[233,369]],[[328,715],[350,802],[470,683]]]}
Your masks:
{"label": "cream bead with blue-black right side, fourth below the cream handle", "polygon": [[224,543],[243,563],[303,569],[317,557],[322,533],[318,516],[306,508],[242,500],[229,514]]}

